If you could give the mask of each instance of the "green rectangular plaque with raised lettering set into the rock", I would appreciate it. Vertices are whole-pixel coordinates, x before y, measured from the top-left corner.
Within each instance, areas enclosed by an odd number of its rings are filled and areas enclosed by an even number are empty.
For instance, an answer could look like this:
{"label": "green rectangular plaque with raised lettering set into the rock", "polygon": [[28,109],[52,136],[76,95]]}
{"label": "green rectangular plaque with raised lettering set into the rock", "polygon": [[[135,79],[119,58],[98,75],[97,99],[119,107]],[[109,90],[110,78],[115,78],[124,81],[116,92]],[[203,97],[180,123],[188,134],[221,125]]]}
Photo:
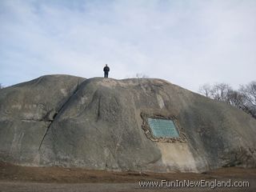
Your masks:
{"label": "green rectangular plaque with raised lettering set into the rock", "polygon": [[178,138],[174,122],[169,119],[147,118],[154,137]]}

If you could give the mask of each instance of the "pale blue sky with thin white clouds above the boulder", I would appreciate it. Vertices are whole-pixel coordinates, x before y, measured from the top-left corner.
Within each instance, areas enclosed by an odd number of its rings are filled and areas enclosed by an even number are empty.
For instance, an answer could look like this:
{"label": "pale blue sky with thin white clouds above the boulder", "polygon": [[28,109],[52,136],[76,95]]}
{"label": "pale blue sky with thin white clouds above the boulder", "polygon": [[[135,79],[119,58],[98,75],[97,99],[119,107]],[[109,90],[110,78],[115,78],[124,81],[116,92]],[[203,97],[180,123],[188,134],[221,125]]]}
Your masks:
{"label": "pale blue sky with thin white clouds above the boulder", "polygon": [[197,91],[255,79],[254,0],[0,0],[0,82],[146,74]]}

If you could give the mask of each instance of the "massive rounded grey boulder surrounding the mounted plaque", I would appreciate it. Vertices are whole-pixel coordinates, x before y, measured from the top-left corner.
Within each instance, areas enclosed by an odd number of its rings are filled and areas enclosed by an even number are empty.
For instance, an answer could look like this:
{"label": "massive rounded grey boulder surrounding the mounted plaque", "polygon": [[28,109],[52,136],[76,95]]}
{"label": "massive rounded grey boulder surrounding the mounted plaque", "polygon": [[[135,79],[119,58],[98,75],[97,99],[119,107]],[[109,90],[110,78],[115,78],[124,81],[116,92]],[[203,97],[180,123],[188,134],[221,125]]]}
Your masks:
{"label": "massive rounded grey boulder surrounding the mounted plaque", "polygon": [[[186,142],[152,141],[142,114]],[[145,119],[144,119],[145,120]],[[0,90],[0,160],[23,166],[193,171],[256,166],[256,120],[160,79],[48,75]]]}

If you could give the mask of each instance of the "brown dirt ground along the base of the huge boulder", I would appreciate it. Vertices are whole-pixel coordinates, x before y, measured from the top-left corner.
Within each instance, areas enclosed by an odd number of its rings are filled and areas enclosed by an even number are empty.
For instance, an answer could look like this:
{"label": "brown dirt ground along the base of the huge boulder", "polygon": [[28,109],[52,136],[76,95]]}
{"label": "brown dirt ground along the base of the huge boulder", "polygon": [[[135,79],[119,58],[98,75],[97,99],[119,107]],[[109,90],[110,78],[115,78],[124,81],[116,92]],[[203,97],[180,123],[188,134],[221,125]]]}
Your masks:
{"label": "brown dirt ground along the base of the huge boulder", "polygon": [[[249,182],[249,187],[170,187],[174,181]],[[140,183],[158,186],[140,186]],[[167,183],[167,185],[166,185]],[[162,186],[160,186],[163,184]],[[138,173],[62,167],[13,166],[0,162],[0,192],[7,191],[256,191],[256,169],[228,167],[194,173]]]}

